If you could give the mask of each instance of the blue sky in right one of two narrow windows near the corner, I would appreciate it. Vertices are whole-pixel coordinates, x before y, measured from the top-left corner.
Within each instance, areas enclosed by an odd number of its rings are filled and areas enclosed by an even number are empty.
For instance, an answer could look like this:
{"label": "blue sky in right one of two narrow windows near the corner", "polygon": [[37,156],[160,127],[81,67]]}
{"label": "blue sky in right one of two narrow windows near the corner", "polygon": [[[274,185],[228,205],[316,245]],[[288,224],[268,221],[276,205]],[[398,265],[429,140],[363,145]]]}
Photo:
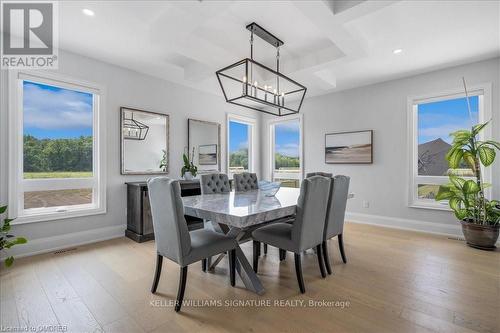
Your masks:
{"label": "blue sky in right one of two narrow windows near the corner", "polygon": [[299,121],[291,120],[274,126],[274,149],[288,157],[299,157]]}

